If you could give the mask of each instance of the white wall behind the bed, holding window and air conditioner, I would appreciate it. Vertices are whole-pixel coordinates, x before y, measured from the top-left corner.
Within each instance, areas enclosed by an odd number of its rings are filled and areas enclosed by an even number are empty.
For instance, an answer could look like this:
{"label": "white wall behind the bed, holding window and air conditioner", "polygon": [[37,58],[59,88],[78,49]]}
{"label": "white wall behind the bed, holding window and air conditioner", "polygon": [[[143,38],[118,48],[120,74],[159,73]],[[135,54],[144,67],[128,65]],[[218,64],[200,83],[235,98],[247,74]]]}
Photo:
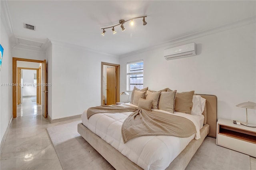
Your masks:
{"label": "white wall behind the bed, holding window and air conditioner", "polygon": [[[120,59],[120,91],[126,90],[126,63],[144,60],[144,87],[165,87],[218,97],[218,118],[246,121],[245,109],[237,104],[256,102],[255,23],[187,42],[144,51]],[[163,50],[195,42],[198,55],[167,61]],[[249,123],[256,123],[248,109]]]}

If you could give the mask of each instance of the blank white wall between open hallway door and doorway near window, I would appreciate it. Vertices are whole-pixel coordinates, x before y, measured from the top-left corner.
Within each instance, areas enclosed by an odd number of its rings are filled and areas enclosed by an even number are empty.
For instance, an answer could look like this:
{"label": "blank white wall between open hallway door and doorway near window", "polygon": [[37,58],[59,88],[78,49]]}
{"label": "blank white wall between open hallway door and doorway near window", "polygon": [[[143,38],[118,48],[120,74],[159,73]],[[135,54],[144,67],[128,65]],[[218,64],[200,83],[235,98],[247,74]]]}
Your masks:
{"label": "blank white wall between open hallway door and doorway near window", "polygon": [[52,119],[101,105],[101,62],[119,64],[119,58],[52,42]]}

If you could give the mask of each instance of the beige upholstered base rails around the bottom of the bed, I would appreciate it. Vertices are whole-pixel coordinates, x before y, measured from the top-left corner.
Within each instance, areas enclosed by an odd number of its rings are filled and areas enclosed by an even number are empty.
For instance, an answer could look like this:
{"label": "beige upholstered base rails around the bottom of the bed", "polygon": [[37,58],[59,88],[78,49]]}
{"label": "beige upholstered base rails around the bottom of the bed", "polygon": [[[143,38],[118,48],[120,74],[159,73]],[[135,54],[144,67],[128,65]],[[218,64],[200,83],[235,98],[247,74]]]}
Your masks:
{"label": "beige upholstered base rails around the bottom of the bed", "polygon": [[[142,170],[140,166],[134,164],[126,156],[86,128],[82,123],[78,124],[77,129],[78,133],[117,170]],[[184,170],[209,132],[210,126],[208,124],[204,125],[200,130],[201,138],[198,140],[193,139],[166,170]]]}

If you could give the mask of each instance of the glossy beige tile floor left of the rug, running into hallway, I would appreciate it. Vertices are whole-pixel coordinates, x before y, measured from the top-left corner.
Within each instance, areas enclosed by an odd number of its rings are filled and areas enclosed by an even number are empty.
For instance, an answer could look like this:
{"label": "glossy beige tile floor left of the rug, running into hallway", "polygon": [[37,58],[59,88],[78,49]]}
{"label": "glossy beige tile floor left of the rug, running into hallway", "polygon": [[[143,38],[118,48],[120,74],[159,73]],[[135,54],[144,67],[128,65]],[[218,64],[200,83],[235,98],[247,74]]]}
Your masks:
{"label": "glossy beige tile floor left of the rug, running into hallway", "polygon": [[42,117],[40,105],[30,97],[24,98],[3,145],[0,169],[62,170],[46,128],[78,120],[80,118],[50,124]]}

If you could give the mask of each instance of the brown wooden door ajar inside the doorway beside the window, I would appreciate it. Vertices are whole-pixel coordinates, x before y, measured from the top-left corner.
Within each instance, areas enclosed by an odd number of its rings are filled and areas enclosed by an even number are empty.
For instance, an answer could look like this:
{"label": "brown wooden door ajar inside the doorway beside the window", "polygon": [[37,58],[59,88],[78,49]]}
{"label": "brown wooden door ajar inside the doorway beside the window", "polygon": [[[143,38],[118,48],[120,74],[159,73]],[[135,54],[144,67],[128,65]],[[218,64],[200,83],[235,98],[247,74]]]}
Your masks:
{"label": "brown wooden door ajar inside the doorway beside the window", "polygon": [[116,104],[116,67],[107,68],[107,105]]}

